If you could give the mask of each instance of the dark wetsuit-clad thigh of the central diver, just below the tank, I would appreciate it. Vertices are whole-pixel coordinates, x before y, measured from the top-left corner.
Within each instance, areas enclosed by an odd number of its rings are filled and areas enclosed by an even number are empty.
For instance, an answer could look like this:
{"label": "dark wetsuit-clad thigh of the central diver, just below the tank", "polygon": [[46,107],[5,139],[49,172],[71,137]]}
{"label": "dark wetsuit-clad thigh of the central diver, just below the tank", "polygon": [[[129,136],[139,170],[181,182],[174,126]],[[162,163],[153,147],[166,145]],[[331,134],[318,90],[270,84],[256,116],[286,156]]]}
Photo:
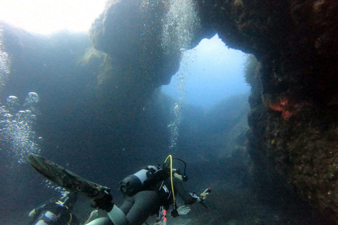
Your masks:
{"label": "dark wetsuit-clad thigh of the central diver, just below the tank", "polygon": [[127,220],[132,225],[143,224],[160,206],[160,198],[155,191],[140,191],[133,199],[134,205],[127,213]]}

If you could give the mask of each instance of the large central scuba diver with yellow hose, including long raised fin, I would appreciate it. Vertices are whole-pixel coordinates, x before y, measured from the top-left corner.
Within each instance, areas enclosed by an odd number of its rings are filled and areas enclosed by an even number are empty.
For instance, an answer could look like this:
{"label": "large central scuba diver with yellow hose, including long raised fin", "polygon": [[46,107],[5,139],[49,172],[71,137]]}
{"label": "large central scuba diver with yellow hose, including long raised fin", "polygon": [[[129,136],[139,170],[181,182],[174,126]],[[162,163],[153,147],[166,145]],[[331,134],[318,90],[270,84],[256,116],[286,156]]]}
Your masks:
{"label": "large central scuba diver with yellow hose, including long raised fin", "polygon": [[[170,164],[168,165],[166,162],[169,158]],[[110,188],[88,181],[55,162],[45,160],[40,155],[30,154],[28,156],[30,165],[47,179],[69,191],[84,194],[94,201],[95,204],[92,207],[106,210],[109,219],[94,219],[88,225],[141,225],[154,214],[158,214],[157,223],[165,225],[166,212],[171,205],[173,217],[187,214],[189,212],[187,205],[194,203],[204,205],[203,201],[206,200],[206,195],[211,192],[211,189],[206,188],[200,195],[187,193],[182,185],[182,181],[187,181],[186,164],[183,160],[180,161],[184,163],[183,174],[180,170],[173,169],[173,158],[169,155],[163,167],[149,165],[127,176],[120,182],[120,191],[126,199],[123,205],[118,207],[113,203]],[[184,201],[181,207],[177,207],[177,195],[180,195]]]}

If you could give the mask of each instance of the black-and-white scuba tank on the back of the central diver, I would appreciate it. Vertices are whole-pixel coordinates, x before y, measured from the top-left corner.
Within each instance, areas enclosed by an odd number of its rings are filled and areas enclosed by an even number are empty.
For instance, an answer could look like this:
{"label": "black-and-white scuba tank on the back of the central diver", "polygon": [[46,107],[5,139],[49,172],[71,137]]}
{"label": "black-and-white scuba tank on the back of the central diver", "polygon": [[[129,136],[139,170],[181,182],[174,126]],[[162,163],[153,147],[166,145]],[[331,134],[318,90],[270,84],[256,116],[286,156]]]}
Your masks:
{"label": "black-and-white scuba tank on the back of the central diver", "polygon": [[127,176],[120,181],[120,191],[123,196],[132,196],[139,191],[146,190],[149,186],[157,184],[170,176],[168,168],[149,165],[138,172]]}

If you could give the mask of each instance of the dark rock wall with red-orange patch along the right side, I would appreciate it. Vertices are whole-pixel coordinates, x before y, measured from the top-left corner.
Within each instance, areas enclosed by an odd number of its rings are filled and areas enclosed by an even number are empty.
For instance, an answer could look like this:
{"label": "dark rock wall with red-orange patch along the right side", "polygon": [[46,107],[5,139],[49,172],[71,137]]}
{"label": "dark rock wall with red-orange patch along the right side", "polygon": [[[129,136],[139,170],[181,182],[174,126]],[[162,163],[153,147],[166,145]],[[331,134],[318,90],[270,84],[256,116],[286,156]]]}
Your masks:
{"label": "dark rock wall with red-orange patch along the right side", "polygon": [[337,222],[337,2],[199,6],[204,25],[261,63],[248,117],[256,169],[281,176],[284,186]]}

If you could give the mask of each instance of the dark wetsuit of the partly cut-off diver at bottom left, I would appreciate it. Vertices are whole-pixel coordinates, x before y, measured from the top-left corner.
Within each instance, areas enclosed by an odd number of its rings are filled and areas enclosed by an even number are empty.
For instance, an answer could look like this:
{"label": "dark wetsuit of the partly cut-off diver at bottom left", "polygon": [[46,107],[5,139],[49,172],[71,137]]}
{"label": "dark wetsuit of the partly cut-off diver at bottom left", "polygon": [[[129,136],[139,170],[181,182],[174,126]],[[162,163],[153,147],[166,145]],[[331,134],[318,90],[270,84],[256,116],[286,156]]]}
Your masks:
{"label": "dark wetsuit of the partly cut-off diver at bottom left", "polygon": [[[80,224],[80,221],[75,217],[75,214],[72,213],[72,209],[58,204],[58,202],[53,199],[49,200],[48,203],[35,208],[35,212],[35,217],[31,219],[30,224],[36,224],[37,221],[41,219],[44,223],[53,225]],[[46,212],[51,212],[52,214],[46,214]],[[54,217],[53,214],[56,217]],[[52,215],[52,219],[50,215]]]}

